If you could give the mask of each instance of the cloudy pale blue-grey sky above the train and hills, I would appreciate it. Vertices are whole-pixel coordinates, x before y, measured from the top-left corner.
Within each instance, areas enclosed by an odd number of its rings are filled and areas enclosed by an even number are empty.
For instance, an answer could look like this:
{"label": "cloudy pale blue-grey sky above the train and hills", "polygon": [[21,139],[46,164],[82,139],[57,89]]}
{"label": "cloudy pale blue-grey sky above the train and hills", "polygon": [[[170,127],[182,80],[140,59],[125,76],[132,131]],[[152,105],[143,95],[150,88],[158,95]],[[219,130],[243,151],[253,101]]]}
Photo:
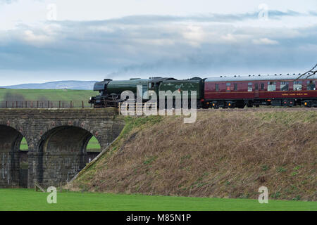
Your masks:
{"label": "cloudy pale blue-grey sky above the train and hills", "polygon": [[306,72],[316,21],[316,0],[0,0],[0,86]]}

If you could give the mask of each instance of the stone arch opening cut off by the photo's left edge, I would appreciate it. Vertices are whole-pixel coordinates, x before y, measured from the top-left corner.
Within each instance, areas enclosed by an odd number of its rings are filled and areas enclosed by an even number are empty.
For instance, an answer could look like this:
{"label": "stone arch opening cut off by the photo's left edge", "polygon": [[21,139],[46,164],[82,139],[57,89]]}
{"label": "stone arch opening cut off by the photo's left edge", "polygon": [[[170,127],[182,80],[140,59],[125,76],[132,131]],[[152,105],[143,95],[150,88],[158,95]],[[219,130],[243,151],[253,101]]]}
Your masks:
{"label": "stone arch opening cut off by the photo's left edge", "polygon": [[[20,186],[20,143],[23,134],[8,124],[0,124],[0,186]],[[29,142],[27,141],[27,146]]]}

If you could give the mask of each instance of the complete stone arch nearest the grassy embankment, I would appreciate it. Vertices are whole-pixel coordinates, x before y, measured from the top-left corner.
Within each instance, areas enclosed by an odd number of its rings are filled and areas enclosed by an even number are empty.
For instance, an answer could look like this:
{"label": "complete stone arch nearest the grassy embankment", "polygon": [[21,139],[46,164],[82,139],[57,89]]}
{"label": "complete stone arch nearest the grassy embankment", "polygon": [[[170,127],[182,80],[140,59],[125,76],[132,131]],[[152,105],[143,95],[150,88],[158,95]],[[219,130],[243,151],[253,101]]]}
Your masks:
{"label": "complete stone arch nearest the grassy embankment", "polygon": [[73,125],[46,131],[37,146],[36,179],[39,184],[60,186],[80,172],[87,163],[86,148],[92,136],[91,131]]}

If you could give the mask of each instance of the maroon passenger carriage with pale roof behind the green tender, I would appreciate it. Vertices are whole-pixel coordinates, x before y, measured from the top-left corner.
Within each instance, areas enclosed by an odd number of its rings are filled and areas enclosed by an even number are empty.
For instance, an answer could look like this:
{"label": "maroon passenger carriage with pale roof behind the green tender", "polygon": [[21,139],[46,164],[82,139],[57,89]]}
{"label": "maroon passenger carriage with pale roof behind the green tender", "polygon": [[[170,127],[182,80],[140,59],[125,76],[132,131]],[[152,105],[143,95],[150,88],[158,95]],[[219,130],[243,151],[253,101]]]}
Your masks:
{"label": "maroon passenger carriage with pale roof behind the green tender", "polygon": [[317,107],[317,75],[253,75],[205,79],[204,100],[213,108],[244,108],[245,105]]}

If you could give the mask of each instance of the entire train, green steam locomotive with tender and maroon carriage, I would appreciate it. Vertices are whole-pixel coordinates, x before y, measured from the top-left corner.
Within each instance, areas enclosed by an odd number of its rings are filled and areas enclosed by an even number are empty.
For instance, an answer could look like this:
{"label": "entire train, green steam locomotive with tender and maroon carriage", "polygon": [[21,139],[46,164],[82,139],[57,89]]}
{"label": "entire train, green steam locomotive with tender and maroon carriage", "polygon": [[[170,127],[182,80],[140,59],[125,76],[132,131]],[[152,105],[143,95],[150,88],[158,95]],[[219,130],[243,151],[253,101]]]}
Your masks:
{"label": "entire train, green steam locomotive with tender and maroon carriage", "polygon": [[[132,91],[137,96],[137,85],[142,86],[144,102],[149,98],[146,91],[197,91],[197,108],[244,108],[259,105],[317,107],[317,75],[300,77],[300,75],[249,75],[220,76],[201,79],[175,79],[173,77],[150,77],[149,79],[131,78],[113,81],[104,79],[94,84],[98,96],[90,98],[94,108],[118,107],[122,101],[123,91]],[[144,97],[145,96],[145,97]],[[135,100],[136,101],[136,100]],[[175,101],[175,99],[173,99]]]}

